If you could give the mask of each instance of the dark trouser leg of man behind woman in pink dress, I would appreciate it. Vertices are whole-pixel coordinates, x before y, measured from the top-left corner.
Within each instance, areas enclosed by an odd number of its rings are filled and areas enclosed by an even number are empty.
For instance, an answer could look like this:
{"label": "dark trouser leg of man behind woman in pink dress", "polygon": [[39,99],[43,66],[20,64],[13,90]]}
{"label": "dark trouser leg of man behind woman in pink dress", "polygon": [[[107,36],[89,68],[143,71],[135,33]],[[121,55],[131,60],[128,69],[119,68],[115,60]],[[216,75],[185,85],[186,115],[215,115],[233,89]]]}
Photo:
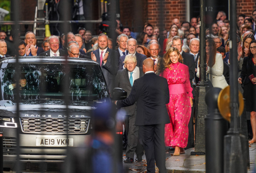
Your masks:
{"label": "dark trouser leg of man behind woman in pink dress", "polygon": [[193,99],[193,107],[191,108],[191,116],[188,123],[188,145],[186,149],[192,148],[194,144],[194,115],[195,115],[195,99]]}

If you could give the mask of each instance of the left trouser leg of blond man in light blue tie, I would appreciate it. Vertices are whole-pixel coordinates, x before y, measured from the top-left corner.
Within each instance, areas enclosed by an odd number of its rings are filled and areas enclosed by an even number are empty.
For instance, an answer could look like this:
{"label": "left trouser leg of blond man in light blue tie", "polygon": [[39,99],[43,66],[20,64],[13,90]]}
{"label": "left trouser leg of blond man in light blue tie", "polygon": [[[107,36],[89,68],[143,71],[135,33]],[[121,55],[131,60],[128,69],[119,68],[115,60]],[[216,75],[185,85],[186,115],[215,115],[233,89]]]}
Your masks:
{"label": "left trouser leg of blond man in light blue tie", "polygon": [[139,126],[135,125],[136,111],[135,114],[129,116],[129,129],[128,129],[128,146],[126,149],[126,157],[133,159],[134,152],[138,143],[138,130]]}

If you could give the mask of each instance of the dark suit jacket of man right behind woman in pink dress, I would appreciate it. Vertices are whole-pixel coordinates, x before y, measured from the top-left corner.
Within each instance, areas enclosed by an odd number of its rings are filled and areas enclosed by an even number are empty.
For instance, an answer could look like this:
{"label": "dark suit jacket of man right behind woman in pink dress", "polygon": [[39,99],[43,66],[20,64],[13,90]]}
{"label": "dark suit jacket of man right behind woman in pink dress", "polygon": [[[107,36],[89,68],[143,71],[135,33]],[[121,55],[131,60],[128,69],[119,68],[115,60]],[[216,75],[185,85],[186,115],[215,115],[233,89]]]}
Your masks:
{"label": "dark suit jacket of man right behind woman in pink dress", "polygon": [[196,71],[195,59],[194,59],[193,55],[191,55],[189,53],[186,53],[184,51],[182,52],[181,56],[183,58],[183,64],[188,66],[189,81],[190,81],[191,88],[193,88],[192,94],[193,94],[193,97],[194,97],[194,96],[196,96],[196,91],[195,91],[195,88],[193,86],[192,79],[195,78],[195,71]]}

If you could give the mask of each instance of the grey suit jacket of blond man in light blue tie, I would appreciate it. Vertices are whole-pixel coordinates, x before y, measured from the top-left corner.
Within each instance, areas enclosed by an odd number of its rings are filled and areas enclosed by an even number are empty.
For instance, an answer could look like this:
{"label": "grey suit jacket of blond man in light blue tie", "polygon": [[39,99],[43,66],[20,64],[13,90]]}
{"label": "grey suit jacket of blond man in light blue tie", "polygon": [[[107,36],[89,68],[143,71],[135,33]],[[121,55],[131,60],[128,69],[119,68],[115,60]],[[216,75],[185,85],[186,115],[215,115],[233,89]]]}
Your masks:
{"label": "grey suit jacket of blond man in light blue tie", "polygon": [[[142,77],[144,73],[141,67],[139,67],[139,71],[140,71],[139,77]],[[124,89],[127,92],[127,96],[131,94],[132,85],[130,83],[127,69],[117,71],[114,87]],[[136,104],[133,104],[132,106],[124,107],[123,109],[125,110],[126,115],[133,115],[136,109]]]}

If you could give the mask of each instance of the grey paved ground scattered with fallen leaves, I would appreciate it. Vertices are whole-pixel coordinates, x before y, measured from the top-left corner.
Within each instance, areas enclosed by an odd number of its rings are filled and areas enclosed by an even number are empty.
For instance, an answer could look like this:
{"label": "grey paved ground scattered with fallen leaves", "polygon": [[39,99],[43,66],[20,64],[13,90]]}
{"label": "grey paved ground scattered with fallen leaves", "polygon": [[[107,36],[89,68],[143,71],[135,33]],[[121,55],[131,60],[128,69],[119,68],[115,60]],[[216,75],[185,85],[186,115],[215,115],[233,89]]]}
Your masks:
{"label": "grey paved ground scattered with fallen leaves", "polygon": [[[187,149],[185,154],[180,154],[179,156],[173,156],[172,153],[174,151],[169,151],[169,154],[166,154],[165,162],[167,173],[205,173],[205,155],[190,155],[191,151],[194,151],[193,148]],[[250,169],[247,170],[247,173],[254,173],[256,143],[249,145],[249,153]],[[125,159],[125,156],[123,156],[123,158]],[[123,165],[124,169],[127,170],[126,172],[145,173],[147,171],[145,154],[142,159],[142,162],[124,163]],[[158,172],[157,167],[156,172]]]}

